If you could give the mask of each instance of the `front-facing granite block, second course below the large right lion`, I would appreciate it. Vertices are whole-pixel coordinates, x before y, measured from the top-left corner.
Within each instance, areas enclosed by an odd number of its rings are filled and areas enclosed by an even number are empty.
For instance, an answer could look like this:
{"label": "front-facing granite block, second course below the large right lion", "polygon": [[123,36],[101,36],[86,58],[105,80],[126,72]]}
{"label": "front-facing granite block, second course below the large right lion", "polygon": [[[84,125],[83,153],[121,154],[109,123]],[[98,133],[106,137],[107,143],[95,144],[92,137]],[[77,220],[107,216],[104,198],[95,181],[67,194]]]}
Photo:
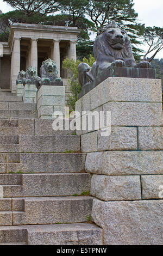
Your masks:
{"label": "front-facing granite block, second course below the large right lion", "polygon": [[160,126],[162,125],[162,103],[108,102],[103,111],[111,111],[113,126]]}

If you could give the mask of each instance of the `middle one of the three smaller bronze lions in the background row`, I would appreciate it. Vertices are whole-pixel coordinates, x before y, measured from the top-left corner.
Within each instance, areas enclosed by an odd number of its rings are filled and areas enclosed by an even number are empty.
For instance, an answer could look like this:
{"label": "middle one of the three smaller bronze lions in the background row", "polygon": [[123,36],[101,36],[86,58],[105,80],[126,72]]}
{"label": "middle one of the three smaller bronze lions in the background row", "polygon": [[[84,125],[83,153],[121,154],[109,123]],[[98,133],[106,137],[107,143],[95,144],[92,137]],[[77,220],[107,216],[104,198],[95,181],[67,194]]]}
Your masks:
{"label": "middle one of the three smaller bronze lions in the background row", "polygon": [[40,86],[39,82],[41,78],[37,76],[37,70],[32,66],[30,66],[27,69],[25,78],[26,78],[26,84],[35,84],[37,88]]}

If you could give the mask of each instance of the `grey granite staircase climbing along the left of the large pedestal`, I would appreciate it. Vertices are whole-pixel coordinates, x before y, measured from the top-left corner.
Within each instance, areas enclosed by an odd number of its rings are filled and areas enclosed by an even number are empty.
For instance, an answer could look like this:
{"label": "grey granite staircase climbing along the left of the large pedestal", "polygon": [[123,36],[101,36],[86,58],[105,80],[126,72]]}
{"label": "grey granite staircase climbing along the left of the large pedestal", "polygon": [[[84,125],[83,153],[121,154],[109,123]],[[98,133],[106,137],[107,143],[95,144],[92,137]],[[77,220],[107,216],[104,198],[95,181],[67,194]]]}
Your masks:
{"label": "grey granite staircase climbing along the left of the large pedestal", "polygon": [[102,245],[80,136],[0,92],[0,245]]}

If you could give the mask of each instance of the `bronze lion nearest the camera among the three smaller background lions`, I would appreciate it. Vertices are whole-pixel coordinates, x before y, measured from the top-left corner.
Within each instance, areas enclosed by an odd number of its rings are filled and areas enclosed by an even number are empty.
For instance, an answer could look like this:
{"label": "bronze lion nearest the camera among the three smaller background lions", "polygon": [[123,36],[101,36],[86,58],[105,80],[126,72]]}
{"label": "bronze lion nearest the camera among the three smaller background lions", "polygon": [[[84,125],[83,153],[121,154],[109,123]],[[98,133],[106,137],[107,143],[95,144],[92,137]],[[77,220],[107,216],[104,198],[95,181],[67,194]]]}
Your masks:
{"label": "bronze lion nearest the camera among the three smaller background lions", "polygon": [[40,68],[41,75],[41,84],[46,84],[47,82],[61,81],[61,78],[58,77],[58,69],[56,62],[52,59],[47,59],[45,62],[42,62]]}

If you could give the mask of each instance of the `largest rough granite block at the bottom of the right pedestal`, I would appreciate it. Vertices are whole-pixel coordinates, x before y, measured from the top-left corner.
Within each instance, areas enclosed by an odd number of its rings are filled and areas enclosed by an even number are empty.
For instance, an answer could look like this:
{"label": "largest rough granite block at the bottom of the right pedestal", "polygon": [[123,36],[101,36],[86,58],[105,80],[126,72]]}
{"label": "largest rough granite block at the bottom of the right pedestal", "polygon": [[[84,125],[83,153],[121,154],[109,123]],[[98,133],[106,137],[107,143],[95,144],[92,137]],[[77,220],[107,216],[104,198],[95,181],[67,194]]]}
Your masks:
{"label": "largest rough granite block at the bottom of the right pedestal", "polygon": [[103,228],[104,245],[162,245],[163,200],[93,200],[92,221]]}

